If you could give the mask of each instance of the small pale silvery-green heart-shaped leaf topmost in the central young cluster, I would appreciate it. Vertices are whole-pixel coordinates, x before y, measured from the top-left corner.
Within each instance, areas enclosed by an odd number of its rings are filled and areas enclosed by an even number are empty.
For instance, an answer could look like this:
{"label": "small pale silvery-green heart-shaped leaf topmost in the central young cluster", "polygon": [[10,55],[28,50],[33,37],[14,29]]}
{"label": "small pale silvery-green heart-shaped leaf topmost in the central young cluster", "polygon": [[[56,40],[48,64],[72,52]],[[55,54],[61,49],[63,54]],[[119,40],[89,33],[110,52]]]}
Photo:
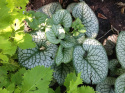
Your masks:
{"label": "small pale silvery-green heart-shaped leaf topmost in the central young cluster", "polygon": [[61,9],[57,11],[52,18],[54,24],[62,24],[64,28],[69,28],[72,25],[72,17],[67,10]]}

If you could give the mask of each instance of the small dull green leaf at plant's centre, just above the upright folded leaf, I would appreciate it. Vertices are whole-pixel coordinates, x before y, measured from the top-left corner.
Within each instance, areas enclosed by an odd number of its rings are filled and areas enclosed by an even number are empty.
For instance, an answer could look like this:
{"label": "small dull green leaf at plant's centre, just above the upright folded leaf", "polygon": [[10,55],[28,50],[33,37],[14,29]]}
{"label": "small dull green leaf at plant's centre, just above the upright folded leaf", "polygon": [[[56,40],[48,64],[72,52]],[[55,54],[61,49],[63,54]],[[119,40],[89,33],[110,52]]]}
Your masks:
{"label": "small dull green leaf at plant's centre, just above the upright folded leaf", "polygon": [[70,47],[73,47],[76,44],[76,40],[74,39],[73,36],[66,35],[65,38],[63,40],[61,40],[60,44],[64,48],[70,48]]}

